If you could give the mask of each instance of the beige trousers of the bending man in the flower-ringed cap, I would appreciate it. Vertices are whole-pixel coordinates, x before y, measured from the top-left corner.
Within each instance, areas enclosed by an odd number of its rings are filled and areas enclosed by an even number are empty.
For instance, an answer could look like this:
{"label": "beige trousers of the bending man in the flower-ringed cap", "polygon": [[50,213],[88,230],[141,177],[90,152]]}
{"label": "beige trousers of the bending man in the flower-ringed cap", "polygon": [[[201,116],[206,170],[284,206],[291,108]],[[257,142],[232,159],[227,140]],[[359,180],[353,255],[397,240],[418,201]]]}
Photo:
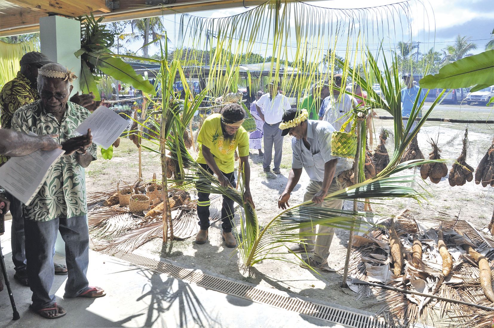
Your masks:
{"label": "beige trousers of the bending man in the flower-ringed cap", "polygon": [[[310,180],[304,195],[304,202],[312,200],[314,195],[321,191],[322,185],[323,183],[320,181]],[[331,185],[329,186],[328,194],[331,194],[340,189],[341,186],[339,185],[336,178],[334,178],[331,182]],[[343,207],[343,200],[332,199],[330,201],[324,201],[323,203],[319,203],[317,205],[314,204],[314,206],[341,209]],[[316,226],[313,226],[312,228],[308,227],[300,229],[300,232],[307,231],[316,233]],[[317,234],[317,236],[307,237],[307,244],[314,245],[313,259],[318,262],[324,263],[328,260],[329,246],[331,246],[331,241],[333,240],[334,228],[330,228],[324,225],[318,225]]]}

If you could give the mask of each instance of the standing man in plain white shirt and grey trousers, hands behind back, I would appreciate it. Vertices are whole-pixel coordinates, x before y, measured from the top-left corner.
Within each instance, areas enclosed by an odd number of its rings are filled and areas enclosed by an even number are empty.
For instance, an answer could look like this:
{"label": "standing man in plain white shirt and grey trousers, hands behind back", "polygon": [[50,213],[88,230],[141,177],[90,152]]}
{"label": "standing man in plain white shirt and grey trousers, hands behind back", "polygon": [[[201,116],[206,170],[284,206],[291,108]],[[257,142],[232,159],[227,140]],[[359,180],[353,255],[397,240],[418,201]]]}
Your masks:
{"label": "standing man in plain white shirt and grey trousers, hands behind back", "polygon": [[263,94],[256,103],[257,113],[264,121],[264,159],[262,161],[262,166],[264,172],[271,171],[274,145],[275,157],[273,173],[275,174],[281,174],[280,164],[283,152],[283,136],[281,135],[279,126],[283,114],[291,108],[288,98],[279,92],[280,85],[281,82],[279,81],[273,80],[270,82],[267,85],[268,92]]}

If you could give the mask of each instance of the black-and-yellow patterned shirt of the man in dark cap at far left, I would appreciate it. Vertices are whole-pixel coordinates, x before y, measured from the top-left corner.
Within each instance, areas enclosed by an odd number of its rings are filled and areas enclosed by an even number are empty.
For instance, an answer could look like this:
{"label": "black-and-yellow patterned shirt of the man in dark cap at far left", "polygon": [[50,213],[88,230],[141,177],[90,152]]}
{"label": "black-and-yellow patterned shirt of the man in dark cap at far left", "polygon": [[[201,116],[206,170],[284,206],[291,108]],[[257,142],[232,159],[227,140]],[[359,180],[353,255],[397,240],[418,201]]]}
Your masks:
{"label": "black-and-yellow patterned shirt of the man in dark cap at far left", "polygon": [[[0,91],[0,123],[4,129],[11,128],[12,115],[24,105],[40,99],[36,87],[21,72],[5,83]],[[0,156],[0,165],[7,162],[8,157]]]}

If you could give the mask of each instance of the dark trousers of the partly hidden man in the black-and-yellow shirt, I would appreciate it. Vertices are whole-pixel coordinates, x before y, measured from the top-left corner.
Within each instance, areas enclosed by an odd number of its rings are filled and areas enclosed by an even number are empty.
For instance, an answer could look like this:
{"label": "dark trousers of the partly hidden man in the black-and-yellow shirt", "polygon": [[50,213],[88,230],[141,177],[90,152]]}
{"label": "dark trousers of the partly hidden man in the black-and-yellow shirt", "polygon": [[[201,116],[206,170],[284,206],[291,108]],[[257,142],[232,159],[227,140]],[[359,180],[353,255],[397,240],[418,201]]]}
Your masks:
{"label": "dark trousers of the partly hidden man in the black-and-yellow shirt", "polygon": [[10,202],[10,214],[12,215],[12,230],[10,244],[12,246],[12,262],[15,271],[26,268],[26,249],[24,247],[24,218],[22,215],[22,203],[9,193],[5,197]]}

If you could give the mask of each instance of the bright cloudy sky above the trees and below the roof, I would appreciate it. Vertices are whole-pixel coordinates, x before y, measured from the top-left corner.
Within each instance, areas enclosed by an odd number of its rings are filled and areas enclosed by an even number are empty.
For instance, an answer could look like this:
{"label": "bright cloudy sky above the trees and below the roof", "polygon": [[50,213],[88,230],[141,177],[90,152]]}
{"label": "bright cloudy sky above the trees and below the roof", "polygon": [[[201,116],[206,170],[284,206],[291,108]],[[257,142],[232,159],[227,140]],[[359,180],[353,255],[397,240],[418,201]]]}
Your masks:
{"label": "bright cloudy sky above the trees and below the roof", "polygon": [[[472,41],[477,43],[477,50],[474,53],[479,53],[484,50],[485,43],[491,38],[491,32],[494,29],[494,0],[418,0],[411,1],[412,5],[418,3],[418,7],[425,8],[415,12],[416,17],[411,17],[412,41],[423,42],[420,45],[420,51],[426,52],[430,47],[434,46],[436,51],[440,51],[446,45],[453,44],[454,38],[460,34],[461,36],[471,37]],[[385,5],[396,3],[396,0],[324,0],[324,1],[304,1],[327,8],[366,8],[371,3],[372,6]],[[422,4],[423,3],[423,4]],[[201,17],[222,18],[226,16],[236,15],[245,12],[249,9],[231,8],[214,11],[199,11],[191,13]],[[422,11],[421,11],[422,10]],[[178,28],[180,15],[163,16],[165,29],[168,32],[168,37],[173,44],[178,44]],[[424,30],[426,32],[424,34]],[[426,35],[426,36],[424,36]],[[400,36],[401,37],[401,36]],[[396,43],[401,40],[389,40]],[[132,50],[137,50],[142,44],[132,44],[128,47]],[[153,50],[150,51],[152,53]]]}

